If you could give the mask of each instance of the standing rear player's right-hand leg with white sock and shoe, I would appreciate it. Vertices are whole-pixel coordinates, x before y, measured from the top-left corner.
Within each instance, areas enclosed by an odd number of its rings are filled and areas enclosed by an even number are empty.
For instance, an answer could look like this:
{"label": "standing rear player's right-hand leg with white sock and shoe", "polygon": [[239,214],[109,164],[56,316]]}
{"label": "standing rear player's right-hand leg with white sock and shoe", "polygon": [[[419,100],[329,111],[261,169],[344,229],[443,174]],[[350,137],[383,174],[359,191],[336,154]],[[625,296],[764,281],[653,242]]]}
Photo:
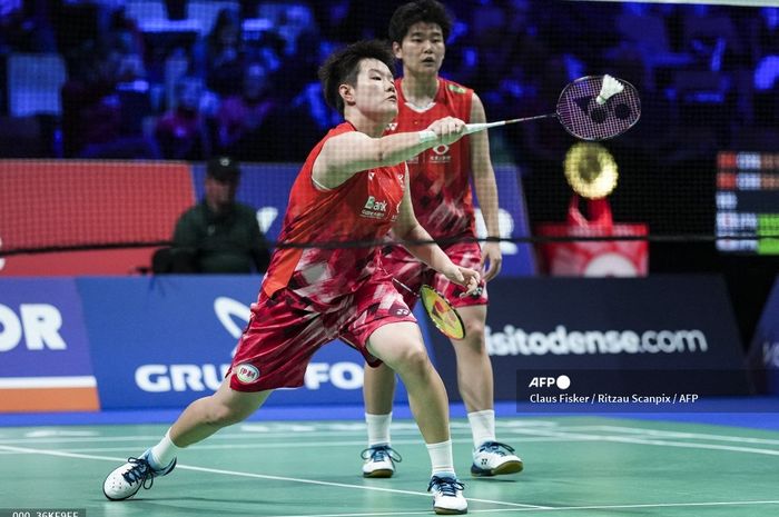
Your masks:
{"label": "standing rear player's right-hand leg with white sock and shoe", "polygon": [[457,358],[457,388],[473,434],[471,474],[516,474],[524,468],[522,460],[513,454],[513,448],[495,439],[494,382],[484,338],[486,310],[486,306],[460,307],[465,338],[452,340]]}

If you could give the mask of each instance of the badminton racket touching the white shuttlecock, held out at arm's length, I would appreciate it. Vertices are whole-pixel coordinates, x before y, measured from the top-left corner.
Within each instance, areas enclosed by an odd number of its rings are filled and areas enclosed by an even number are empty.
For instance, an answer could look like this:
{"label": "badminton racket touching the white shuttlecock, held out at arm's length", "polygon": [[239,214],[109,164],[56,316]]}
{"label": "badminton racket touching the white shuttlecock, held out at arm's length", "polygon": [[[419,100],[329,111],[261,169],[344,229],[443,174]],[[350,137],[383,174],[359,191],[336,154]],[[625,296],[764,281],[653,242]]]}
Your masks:
{"label": "badminton racket touching the white shuttlecock, held out at arm's length", "polygon": [[633,84],[611,76],[588,76],[568,84],[554,113],[466,123],[465,135],[507,123],[556,117],[563,128],[582,140],[607,140],[622,135],[641,117],[641,100]]}

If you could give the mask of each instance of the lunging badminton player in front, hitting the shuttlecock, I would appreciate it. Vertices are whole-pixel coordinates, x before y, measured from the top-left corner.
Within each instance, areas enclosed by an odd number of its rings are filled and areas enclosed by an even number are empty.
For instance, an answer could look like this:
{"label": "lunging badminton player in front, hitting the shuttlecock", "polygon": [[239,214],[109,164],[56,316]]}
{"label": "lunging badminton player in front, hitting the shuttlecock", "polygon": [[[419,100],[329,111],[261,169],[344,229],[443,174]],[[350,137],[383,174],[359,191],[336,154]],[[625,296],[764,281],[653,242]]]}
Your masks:
{"label": "lunging badminton player in front, hitting the shuttlecock", "polygon": [[[405,160],[452,145],[464,122],[444,117],[423,131],[383,136],[397,115],[393,64],[387,47],[364,41],[335,52],[322,67],[327,101],[346,121],[306,159],[289,195],[282,241],[379,241],[389,229],[408,241],[431,240],[414,217]],[[455,266],[437,246],[408,249],[466,295],[479,288],[479,272]],[[310,357],[335,338],[401,376],[430,453],[434,509],[464,514],[446,390],[414,317],[379,267],[378,249],[367,247],[278,249],[219,389],[189,405],[156,446],[115,469],[103,483],[106,497],[127,499],[150,487],[174,469],[181,448],[244,420],[273,389],[302,386]]]}

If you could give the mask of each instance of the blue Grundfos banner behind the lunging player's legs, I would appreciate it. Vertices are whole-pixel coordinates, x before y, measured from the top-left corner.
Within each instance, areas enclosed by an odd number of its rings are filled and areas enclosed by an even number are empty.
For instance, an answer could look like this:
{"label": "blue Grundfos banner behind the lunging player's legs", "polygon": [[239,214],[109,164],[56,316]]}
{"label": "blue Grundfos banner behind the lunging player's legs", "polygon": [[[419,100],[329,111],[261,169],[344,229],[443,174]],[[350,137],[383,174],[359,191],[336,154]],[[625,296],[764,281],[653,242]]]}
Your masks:
{"label": "blue Grundfos banner behind the lunging player's legs", "polygon": [[[260,281],[259,275],[78,279],[102,407],[184,407],[215,391]],[[362,404],[363,367],[348,345],[327,344],[304,386],[277,390],[267,404]],[[405,400],[405,390],[396,399]]]}

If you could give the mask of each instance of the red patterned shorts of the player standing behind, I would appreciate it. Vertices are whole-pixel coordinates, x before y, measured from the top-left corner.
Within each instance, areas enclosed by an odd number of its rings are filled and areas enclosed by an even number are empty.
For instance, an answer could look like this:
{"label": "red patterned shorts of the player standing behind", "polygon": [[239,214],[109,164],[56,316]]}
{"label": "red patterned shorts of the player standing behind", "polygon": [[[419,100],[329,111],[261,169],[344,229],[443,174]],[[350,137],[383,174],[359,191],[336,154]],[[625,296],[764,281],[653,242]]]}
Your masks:
{"label": "red patterned shorts of the player standing behind", "polygon": [[[457,266],[479,270],[482,260],[482,248],[479,246],[479,242],[455,242],[443,247],[443,250]],[[480,284],[482,288],[480,295],[461,298],[460,295],[465,292],[465,289],[420,262],[408,250],[401,246],[385,248],[382,251],[382,267],[393,278],[414,291],[414,294],[420,292],[420,288],[425,284],[433,287],[436,291],[444,295],[444,298],[455,308],[487,304],[486,282],[484,280]],[[398,291],[403,295],[406,305],[413,309],[418,298],[402,287],[398,287]]]}

